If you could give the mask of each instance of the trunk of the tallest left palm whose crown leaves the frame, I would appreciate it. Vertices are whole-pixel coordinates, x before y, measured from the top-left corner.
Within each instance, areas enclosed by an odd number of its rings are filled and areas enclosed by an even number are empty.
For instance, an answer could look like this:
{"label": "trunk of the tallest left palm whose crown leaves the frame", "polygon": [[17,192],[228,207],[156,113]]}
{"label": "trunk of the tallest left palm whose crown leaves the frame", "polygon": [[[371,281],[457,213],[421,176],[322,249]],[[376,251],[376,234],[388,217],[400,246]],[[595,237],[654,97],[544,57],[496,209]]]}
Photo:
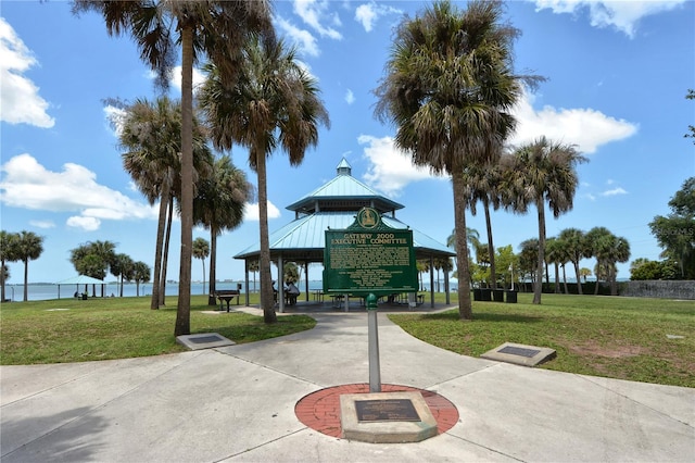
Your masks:
{"label": "trunk of the tallest left palm whose crown leaves the frame", "polygon": [[191,333],[193,245],[193,27],[181,28],[181,254],[174,336]]}

